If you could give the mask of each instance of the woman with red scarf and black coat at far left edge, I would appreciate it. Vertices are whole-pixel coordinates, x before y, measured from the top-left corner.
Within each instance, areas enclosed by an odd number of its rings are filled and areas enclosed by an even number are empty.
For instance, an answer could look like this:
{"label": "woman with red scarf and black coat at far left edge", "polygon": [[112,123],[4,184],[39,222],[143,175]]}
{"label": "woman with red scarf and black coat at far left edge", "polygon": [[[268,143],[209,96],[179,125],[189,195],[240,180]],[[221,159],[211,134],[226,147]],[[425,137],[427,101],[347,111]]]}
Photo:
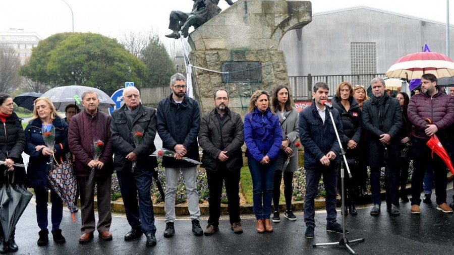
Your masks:
{"label": "woman with red scarf and black coat at far left edge", "polygon": [[[13,98],[5,93],[0,93],[0,121],[4,128],[0,131],[0,161],[4,162],[0,164],[0,182],[7,183],[14,174],[14,183],[26,184],[25,168],[13,166],[15,163],[24,163],[22,152],[25,148],[25,134],[21,119],[13,112]],[[0,225],[0,253],[18,250],[19,247],[14,241],[16,228],[8,240],[1,229]]]}

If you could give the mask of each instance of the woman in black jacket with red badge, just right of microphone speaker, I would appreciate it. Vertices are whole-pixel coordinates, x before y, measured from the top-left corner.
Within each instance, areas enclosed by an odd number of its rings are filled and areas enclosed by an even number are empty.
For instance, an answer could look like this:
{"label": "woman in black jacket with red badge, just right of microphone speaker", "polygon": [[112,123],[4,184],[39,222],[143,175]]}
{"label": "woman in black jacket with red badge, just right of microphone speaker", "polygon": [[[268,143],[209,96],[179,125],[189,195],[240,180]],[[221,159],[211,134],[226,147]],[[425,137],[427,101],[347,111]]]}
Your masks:
{"label": "woman in black jacket with red badge, just right of microphone speaker", "polygon": [[[345,208],[341,212],[348,215],[357,215],[355,208],[356,187],[360,185],[358,180],[358,163],[357,159],[361,156],[360,140],[361,140],[361,109],[353,97],[352,84],[342,82],[337,86],[336,95],[332,98],[332,106],[334,106],[341,115],[342,126],[344,129],[344,137],[342,147],[346,151],[346,158],[349,164],[353,178],[345,178]],[[341,159],[343,160],[343,159]],[[344,169],[347,171],[347,169]],[[340,174],[340,171],[339,171]],[[345,176],[348,176],[347,174]],[[337,187],[340,189],[340,175],[337,178]],[[347,210],[348,209],[348,210]]]}

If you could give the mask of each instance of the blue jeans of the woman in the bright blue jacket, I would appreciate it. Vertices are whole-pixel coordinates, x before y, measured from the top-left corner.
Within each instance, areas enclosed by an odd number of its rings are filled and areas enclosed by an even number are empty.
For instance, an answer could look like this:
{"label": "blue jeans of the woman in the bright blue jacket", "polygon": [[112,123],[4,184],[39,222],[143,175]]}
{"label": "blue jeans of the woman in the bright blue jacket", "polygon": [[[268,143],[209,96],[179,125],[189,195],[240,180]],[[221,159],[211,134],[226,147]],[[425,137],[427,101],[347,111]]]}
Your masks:
{"label": "blue jeans of the woman in the bright blue jacket", "polygon": [[[273,180],[277,161],[262,165],[254,159],[248,159],[252,176],[254,214],[257,220],[269,219],[273,198]],[[263,203],[262,203],[263,201]]]}

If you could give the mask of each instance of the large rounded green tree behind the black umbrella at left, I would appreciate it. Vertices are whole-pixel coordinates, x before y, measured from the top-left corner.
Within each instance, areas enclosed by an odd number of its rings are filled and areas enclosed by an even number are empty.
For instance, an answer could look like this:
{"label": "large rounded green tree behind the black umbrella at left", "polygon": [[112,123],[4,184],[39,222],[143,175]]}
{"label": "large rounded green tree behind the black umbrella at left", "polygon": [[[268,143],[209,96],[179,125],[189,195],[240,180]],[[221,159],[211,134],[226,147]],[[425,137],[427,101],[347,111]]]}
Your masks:
{"label": "large rounded green tree behind the black umbrella at left", "polygon": [[142,86],[147,69],[116,39],[61,33],[39,42],[21,75],[51,87],[77,84],[113,92],[126,81]]}

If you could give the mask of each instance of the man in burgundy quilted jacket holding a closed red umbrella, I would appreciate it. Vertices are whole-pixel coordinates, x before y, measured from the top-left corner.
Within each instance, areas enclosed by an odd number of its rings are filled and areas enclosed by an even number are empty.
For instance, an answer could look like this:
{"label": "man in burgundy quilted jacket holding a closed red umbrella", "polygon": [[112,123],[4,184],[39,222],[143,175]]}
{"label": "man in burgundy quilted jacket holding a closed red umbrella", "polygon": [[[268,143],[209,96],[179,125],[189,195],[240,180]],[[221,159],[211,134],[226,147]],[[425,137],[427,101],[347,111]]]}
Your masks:
{"label": "man in burgundy quilted jacket holding a closed red umbrella", "polygon": [[[446,95],[437,86],[437,78],[433,74],[421,77],[421,93],[412,96],[408,105],[408,119],[413,124],[413,176],[412,176],[412,214],[420,214],[420,195],[424,173],[427,167],[434,170],[435,194],[437,210],[452,213],[446,204],[446,165],[426,146],[426,142],[435,135],[442,144],[446,143],[446,130],[454,123],[454,98]],[[431,123],[426,121],[430,119]]]}

